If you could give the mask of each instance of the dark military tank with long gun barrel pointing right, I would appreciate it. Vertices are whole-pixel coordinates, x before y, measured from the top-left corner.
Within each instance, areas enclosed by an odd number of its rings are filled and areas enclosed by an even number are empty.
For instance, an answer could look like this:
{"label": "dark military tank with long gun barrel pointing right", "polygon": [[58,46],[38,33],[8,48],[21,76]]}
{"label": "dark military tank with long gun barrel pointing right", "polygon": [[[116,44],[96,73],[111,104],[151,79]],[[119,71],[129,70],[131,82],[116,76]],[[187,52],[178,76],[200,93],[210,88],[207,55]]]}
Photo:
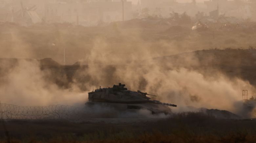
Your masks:
{"label": "dark military tank with long gun barrel pointing right", "polygon": [[120,111],[138,111],[139,109],[147,109],[152,114],[171,114],[171,109],[168,106],[177,107],[175,104],[162,103],[157,100],[151,100],[148,93],[141,91],[130,91],[125,88],[124,84],[119,83],[112,88],[99,88],[88,93],[89,102],[87,105],[101,105],[114,107]]}

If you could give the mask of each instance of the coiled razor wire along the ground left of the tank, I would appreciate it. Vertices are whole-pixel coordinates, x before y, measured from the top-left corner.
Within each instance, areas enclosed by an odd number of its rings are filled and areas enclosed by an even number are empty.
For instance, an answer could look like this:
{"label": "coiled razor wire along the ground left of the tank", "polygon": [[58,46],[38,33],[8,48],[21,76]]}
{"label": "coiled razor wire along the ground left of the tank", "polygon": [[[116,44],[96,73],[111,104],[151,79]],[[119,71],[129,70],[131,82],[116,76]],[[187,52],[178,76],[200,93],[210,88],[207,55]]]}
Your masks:
{"label": "coiled razor wire along the ground left of the tank", "polygon": [[79,120],[90,114],[86,107],[69,105],[16,106],[0,103],[0,118],[8,119],[67,119]]}

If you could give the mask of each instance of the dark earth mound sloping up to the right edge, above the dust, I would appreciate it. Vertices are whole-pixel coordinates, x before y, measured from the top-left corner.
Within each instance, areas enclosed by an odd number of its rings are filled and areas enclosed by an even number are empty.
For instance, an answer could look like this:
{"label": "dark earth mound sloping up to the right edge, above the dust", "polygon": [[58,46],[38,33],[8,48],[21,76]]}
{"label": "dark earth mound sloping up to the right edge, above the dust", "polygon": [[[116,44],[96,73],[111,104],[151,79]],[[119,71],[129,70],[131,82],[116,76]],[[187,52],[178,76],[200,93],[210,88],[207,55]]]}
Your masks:
{"label": "dark earth mound sloping up to the right edge, above the dust", "polygon": [[[256,49],[200,50],[179,55],[154,58],[161,66],[169,69],[187,68],[205,76],[224,73],[230,78],[241,78],[256,85]],[[165,63],[172,63],[166,66]]]}

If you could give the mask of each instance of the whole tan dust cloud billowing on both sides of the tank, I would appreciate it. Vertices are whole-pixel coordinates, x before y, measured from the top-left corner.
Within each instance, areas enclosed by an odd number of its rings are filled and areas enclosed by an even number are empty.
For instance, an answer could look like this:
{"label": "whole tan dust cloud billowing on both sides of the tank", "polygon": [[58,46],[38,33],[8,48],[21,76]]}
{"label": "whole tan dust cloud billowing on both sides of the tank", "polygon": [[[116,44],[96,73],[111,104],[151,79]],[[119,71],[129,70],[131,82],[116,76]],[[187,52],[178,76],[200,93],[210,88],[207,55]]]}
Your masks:
{"label": "whole tan dust cloud billowing on both sides of the tank", "polygon": [[[186,40],[180,44],[177,44],[178,41],[166,43],[156,40],[156,44],[145,42],[139,31],[132,31],[132,34],[131,31],[119,31],[118,34],[121,35],[119,43],[102,35],[96,36],[92,39],[91,49],[84,58],[79,59],[81,66],[88,65],[85,71],[79,70],[75,73],[77,77],[86,80],[86,84],[83,84],[86,91],[81,90],[80,83],[75,80],[69,88],[60,88],[45,79],[45,75],[51,73],[42,71],[37,60],[19,60],[16,66],[7,68],[9,71],[1,77],[1,102],[24,106],[83,104],[87,100],[87,92],[92,90],[92,84],[98,88],[111,87],[121,82],[130,90],[156,94],[156,99],[161,102],[177,104],[178,108],[173,109],[177,112],[201,107],[236,111],[234,103],[241,101],[241,91],[254,90],[249,82],[240,78],[230,79],[222,72],[212,73],[211,77],[207,77],[199,71],[184,68],[184,63],[175,67],[173,65],[179,63],[159,63],[152,59],[179,53],[178,45],[190,44]],[[14,37],[14,41],[21,39]],[[65,38],[62,34],[60,37],[62,40],[55,41],[65,45]],[[203,45],[203,41],[197,43]],[[27,54],[33,55],[37,52],[31,50],[29,42],[22,41],[19,45],[20,49],[15,49],[16,53],[25,50]],[[82,42],[76,45],[81,46]],[[185,64],[200,66],[199,59],[193,54],[186,57]],[[5,69],[7,65],[2,65],[1,68]],[[90,78],[85,78],[85,75]]]}

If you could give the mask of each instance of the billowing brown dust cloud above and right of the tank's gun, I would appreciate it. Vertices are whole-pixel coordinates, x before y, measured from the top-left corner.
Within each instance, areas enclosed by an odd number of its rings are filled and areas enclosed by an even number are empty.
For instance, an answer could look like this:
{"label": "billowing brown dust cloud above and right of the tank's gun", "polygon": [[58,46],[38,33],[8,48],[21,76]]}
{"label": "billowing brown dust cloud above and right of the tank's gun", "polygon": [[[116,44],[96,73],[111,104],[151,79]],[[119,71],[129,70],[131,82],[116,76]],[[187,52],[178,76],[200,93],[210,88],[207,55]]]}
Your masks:
{"label": "billowing brown dust cloud above and right of the tank's gun", "polygon": [[[141,49],[143,48],[140,47]],[[105,51],[104,55],[111,55],[108,52],[111,51],[110,49],[108,51],[102,49],[102,51]],[[144,51],[143,55],[140,54],[142,57],[151,56],[146,49]],[[93,55],[96,56],[93,57]],[[104,76],[106,72],[104,70],[109,67],[109,63],[106,62],[122,64],[118,61],[129,57],[136,56],[129,54],[127,57],[118,58],[118,56],[91,54],[91,60],[101,62],[98,66],[89,64],[89,73],[94,77],[94,83],[98,83],[98,85],[102,83],[102,75]],[[159,64],[154,60],[136,59],[119,68],[112,67],[111,73],[108,74],[111,78],[103,77],[101,85],[111,87],[112,84],[122,82],[131,90],[155,94],[158,95],[157,100],[178,104],[178,108],[173,109],[177,112],[196,110],[201,107],[236,112],[238,107],[234,106],[234,103],[241,101],[241,91],[243,89],[255,90],[248,81],[240,78],[230,79],[222,72],[217,71],[209,77],[199,71],[183,68],[182,65],[181,67],[172,67],[174,64],[179,63],[169,61]],[[200,66],[200,62],[192,54],[191,57],[186,57],[186,65]],[[172,67],[172,69],[166,67]]]}

